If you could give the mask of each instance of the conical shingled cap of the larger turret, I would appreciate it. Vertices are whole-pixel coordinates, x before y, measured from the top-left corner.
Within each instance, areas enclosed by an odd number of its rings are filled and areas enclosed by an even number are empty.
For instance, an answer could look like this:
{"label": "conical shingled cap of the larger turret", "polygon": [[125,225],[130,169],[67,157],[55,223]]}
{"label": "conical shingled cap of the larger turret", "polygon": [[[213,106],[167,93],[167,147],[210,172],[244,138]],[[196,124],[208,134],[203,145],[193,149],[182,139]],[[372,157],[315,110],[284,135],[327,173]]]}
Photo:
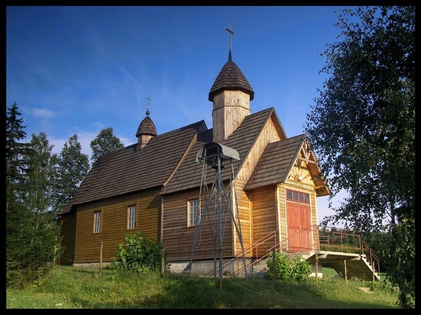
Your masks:
{"label": "conical shingled cap of the larger turret", "polygon": [[209,101],[213,102],[213,96],[221,91],[243,91],[250,95],[253,101],[255,92],[234,61],[228,60],[215,79],[209,92]]}

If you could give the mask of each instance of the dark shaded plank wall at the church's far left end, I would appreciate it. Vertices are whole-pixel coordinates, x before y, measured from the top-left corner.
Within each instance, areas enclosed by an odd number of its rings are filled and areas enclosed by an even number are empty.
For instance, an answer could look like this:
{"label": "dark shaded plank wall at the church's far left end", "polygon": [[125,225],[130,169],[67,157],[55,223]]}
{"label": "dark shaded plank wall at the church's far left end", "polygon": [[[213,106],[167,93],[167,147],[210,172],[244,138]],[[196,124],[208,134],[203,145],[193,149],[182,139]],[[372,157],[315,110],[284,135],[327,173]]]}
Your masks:
{"label": "dark shaded plank wall at the church's far left end", "polygon": [[58,259],[58,263],[61,265],[70,265],[74,262],[75,254],[75,226],[76,223],[76,211],[67,212],[61,215],[61,247],[63,253]]}

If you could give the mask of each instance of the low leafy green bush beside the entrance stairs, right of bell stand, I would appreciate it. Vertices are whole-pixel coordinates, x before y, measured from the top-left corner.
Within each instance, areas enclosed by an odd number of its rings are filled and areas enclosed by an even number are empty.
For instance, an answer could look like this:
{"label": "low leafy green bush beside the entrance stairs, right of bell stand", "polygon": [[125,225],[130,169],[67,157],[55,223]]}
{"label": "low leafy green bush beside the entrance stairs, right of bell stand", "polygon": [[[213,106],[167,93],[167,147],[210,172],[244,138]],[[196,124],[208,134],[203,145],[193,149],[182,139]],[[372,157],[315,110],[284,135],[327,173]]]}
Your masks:
{"label": "low leafy green bush beside the entrance stairs, right of bell stand", "polygon": [[[292,260],[286,254],[275,252],[275,279],[295,279],[304,281],[312,272],[312,266],[306,260],[294,257]],[[273,278],[272,254],[266,259],[267,276]]]}

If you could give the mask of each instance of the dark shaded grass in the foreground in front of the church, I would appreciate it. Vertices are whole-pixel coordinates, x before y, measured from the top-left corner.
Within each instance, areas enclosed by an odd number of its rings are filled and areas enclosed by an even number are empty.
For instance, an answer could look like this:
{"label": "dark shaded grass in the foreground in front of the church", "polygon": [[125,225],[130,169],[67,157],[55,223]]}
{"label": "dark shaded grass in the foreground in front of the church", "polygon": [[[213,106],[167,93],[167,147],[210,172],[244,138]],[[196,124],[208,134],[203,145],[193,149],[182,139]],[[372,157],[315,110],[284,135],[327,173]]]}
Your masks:
{"label": "dark shaded grass in the foreground in front of the church", "polygon": [[[394,309],[381,303],[324,298],[312,283],[281,282],[267,279],[218,279],[169,275],[168,281],[152,294],[140,292],[130,302],[94,302],[74,297],[74,305],[86,309]],[[361,294],[361,295],[360,295]],[[361,300],[359,300],[361,297]]]}

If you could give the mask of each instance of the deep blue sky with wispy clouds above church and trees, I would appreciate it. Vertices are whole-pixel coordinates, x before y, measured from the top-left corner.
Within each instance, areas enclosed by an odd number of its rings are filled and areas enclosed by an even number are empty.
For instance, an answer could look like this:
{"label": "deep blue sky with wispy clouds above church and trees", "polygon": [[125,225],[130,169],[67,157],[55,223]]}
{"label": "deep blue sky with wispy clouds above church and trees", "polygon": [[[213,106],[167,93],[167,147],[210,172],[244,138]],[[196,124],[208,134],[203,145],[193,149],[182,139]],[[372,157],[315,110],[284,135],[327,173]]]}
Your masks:
{"label": "deep blue sky with wispy clouds above church and trees", "polygon": [[[59,153],[78,135],[82,152],[112,127],[125,146],[146,116],[158,134],[205,120],[211,86],[232,60],[255,92],[252,113],[274,107],[288,137],[326,76],[325,45],[336,41],[344,6],[8,6],[6,105],[27,132],[45,132]],[[338,202],[340,198],[336,199]],[[319,219],[331,214],[317,199]]]}

